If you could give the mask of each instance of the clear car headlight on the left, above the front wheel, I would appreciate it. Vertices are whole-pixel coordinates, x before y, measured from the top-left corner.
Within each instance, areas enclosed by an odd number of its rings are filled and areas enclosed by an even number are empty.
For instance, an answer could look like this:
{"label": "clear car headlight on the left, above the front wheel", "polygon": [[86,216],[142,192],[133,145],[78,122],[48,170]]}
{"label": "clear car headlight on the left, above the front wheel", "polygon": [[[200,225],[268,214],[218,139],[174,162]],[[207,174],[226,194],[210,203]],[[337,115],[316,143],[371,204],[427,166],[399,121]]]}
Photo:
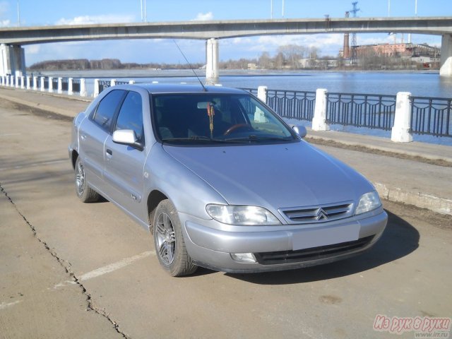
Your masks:
{"label": "clear car headlight on the left, above the front wheel", "polygon": [[208,215],[229,225],[280,225],[281,222],[265,208],[257,206],[206,206]]}

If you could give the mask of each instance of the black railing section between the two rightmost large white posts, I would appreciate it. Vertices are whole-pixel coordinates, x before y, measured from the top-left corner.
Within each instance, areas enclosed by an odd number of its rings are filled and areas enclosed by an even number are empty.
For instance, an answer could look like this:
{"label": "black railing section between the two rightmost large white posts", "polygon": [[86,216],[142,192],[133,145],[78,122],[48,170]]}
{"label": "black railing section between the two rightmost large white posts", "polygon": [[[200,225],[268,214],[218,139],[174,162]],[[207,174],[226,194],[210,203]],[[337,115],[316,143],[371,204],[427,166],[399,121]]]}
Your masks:
{"label": "black railing section between the two rightmost large white posts", "polygon": [[326,120],[329,124],[385,131],[394,124],[396,95],[327,93],[326,97]]}

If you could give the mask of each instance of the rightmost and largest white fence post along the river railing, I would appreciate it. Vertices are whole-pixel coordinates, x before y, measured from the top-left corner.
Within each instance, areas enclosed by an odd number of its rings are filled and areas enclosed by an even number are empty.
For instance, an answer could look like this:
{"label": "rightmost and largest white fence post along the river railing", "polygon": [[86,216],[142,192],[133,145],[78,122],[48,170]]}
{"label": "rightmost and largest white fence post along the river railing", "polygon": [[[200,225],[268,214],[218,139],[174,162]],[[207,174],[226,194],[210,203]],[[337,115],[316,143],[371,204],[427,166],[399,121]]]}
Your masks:
{"label": "rightmost and largest white fence post along the river railing", "polygon": [[411,93],[399,92],[396,99],[396,115],[391,132],[391,141],[396,143],[410,143],[411,133]]}

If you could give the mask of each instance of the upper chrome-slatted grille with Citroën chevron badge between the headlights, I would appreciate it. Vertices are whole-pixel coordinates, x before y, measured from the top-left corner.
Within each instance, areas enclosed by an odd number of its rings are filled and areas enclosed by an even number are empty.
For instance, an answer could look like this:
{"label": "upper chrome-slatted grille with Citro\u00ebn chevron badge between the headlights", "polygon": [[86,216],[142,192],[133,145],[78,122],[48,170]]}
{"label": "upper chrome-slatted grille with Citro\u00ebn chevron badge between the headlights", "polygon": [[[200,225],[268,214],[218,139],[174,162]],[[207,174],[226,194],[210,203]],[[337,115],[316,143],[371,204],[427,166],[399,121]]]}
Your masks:
{"label": "upper chrome-slatted grille with Citro\u00ebn chevron badge between the headlights", "polygon": [[309,206],[304,208],[280,208],[287,221],[296,223],[326,222],[347,218],[352,214],[353,203],[336,203],[325,206]]}

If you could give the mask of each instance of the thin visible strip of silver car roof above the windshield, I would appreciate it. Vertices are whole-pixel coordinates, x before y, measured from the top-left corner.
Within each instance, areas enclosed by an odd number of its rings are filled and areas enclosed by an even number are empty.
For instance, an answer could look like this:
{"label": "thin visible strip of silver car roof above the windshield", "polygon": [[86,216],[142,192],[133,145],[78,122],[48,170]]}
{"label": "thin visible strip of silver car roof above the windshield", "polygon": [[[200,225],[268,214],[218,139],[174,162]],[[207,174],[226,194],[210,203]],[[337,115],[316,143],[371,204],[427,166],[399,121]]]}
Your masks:
{"label": "thin visible strip of silver car roof above the windshield", "polygon": [[131,90],[133,88],[143,88],[150,94],[169,94],[169,93],[227,93],[243,94],[245,91],[239,88],[228,88],[222,86],[204,86],[186,85],[186,84],[167,84],[167,83],[134,83],[133,85],[117,85],[114,88]]}

